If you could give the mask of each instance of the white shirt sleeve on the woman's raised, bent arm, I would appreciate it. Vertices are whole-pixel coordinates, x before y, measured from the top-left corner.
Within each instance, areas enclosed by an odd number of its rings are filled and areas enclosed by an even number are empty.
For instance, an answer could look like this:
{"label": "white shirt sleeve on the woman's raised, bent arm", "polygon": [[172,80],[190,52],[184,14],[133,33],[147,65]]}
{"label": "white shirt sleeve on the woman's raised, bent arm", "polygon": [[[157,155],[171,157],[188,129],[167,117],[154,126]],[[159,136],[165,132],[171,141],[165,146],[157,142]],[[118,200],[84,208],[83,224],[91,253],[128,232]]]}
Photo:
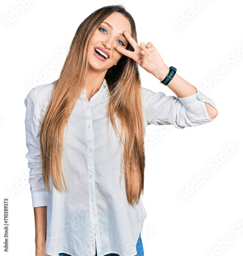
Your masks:
{"label": "white shirt sleeve on the woman's raised, bent arm", "polygon": [[218,113],[214,119],[211,119],[204,103],[209,103],[217,110],[213,99],[196,89],[197,93],[179,98],[165,96],[163,92],[155,93],[142,87],[143,110],[148,125],[173,124],[177,129],[184,129],[215,120]]}

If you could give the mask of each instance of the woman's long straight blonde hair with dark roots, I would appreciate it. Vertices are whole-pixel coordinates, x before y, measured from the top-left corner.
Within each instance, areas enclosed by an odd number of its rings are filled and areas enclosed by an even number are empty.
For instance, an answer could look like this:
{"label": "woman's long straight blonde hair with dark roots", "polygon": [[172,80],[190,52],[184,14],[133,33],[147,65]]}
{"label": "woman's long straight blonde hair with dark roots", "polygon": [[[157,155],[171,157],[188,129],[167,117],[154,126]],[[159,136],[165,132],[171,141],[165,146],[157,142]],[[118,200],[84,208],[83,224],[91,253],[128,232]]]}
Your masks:
{"label": "woman's long straight blonde hair with dark roots", "polygon": [[[131,36],[137,41],[134,19],[122,5],[106,6],[94,11],[77,29],[60,77],[54,84],[52,97],[41,124],[42,176],[48,191],[50,191],[48,185],[50,175],[53,185],[58,191],[63,190],[62,180],[67,191],[61,166],[65,126],[84,89],[83,84],[89,69],[87,49],[90,38],[103,20],[113,12],[122,13],[130,20]],[[130,44],[128,44],[127,50],[134,51]],[[140,195],[143,193],[145,167],[145,131],[138,64],[123,55],[116,66],[108,69],[105,79],[110,92],[107,120],[110,118],[124,147],[122,174],[125,175],[127,200],[130,205],[134,206],[134,204],[138,204]],[[117,130],[115,116],[120,122],[124,136],[120,136]]]}

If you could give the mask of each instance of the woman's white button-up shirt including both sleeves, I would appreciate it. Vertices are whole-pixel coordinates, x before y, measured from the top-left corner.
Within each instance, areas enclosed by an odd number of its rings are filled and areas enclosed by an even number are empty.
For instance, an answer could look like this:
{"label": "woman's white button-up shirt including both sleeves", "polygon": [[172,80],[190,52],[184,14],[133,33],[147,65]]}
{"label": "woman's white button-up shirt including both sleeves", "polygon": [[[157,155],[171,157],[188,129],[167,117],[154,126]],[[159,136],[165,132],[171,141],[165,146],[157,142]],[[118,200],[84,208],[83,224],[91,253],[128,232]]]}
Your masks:
{"label": "woman's white button-up shirt including both sleeves", "polygon": [[[29,183],[33,207],[47,206],[46,253],[95,255],[96,241],[98,256],[134,256],[147,212],[141,199],[134,208],[128,204],[124,175],[119,184],[123,150],[110,122],[108,139],[106,80],[90,101],[84,89],[68,119],[62,158],[68,192],[58,192],[51,177],[51,193],[44,186],[39,134],[55,82],[31,89],[25,99]],[[196,94],[177,98],[142,88],[144,126],[173,124],[184,129],[211,122],[204,102],[217,109],[198,89]]]}

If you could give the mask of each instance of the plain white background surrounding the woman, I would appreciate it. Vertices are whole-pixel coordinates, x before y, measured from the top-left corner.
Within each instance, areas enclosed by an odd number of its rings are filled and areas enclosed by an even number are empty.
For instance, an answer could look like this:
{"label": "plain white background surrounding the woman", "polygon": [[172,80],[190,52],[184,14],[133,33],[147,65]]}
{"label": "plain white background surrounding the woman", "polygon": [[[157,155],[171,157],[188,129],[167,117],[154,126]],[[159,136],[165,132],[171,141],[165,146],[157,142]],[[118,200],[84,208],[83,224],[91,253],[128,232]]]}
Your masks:
{"label": "plain white background surrounding the woman", "polygon": [[[138,43],[151,41],[166,65],[211,97],[220,113],[183,130],[147,127],[144,255],[242,255],[241,1],[28,1],[5,1],[1,8],[0,164],[2,205],[9,198],[8,255],[35,254],[23,100],[31,88],[58,79],[84,18],[113,4],[133,15]],[[176,96],[139,70],[142,87]],[[197,182],[206,170],[209,176]]]}

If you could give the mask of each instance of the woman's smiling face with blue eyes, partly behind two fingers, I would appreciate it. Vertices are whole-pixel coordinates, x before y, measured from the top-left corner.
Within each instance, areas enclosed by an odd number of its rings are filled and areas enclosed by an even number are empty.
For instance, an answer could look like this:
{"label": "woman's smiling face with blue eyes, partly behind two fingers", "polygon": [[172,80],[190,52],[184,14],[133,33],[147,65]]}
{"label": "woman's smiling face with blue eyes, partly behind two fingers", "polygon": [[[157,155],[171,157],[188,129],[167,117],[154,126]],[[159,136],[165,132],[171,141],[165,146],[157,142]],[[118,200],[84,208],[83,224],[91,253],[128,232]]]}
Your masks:
{"label": "woman's smiling face with blue eyes, partly behind two fingers", "polygon": [[[129,20],[118,12],[113,12],[103,20],[90,39],[88,46],[88,61],[91,70],[95,72],[107,71],[116,65],[123,54],[119,53],[115,46],[127,48],[128,40],[123,35],[124,31],[131,35]],[[108,56],[104,58],[94,49],[99,49]]]}

